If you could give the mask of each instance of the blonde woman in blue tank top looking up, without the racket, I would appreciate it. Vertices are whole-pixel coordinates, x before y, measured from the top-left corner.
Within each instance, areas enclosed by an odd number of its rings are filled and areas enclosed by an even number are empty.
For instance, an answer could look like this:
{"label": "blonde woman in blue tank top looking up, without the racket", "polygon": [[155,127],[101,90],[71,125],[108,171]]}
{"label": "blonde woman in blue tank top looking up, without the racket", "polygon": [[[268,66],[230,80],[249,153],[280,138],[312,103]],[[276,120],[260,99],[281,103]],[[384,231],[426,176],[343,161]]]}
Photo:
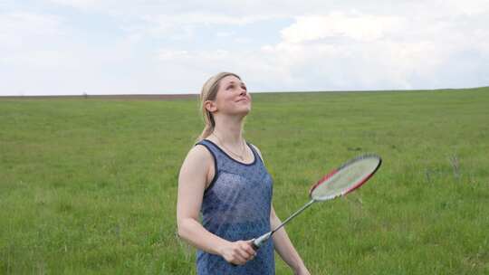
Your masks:
{"label": "blonde woman in blue tank top looking up, without the racket", "polygon": [[251,110],[245,83],[218,73],[200,99],[206,128],[180,169],[177,199],[178,235],[197,247],[197,274],[274,274],[274,250],[295,274],[310,274],[283,228],[258,251],[251,245],[281,221],[262,155],[243,138]]}

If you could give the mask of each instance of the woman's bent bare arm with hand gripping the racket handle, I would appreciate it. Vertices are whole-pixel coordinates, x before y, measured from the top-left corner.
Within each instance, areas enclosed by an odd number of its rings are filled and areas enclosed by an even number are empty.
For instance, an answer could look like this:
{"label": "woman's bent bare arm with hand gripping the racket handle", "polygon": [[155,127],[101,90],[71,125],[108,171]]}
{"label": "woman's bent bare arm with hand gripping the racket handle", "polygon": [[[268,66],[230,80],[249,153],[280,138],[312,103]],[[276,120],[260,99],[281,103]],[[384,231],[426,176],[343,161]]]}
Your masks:
{"label": "woman's bent bare arm with hand gripping the racket handle", "polygon": [[228,242],[208,232],[198,222],[198,213],[208,182],[209,167],[213,165],[212,156],[205,147],[193,147],[188,153],[178,176],[178,235],[200,250],[221,255],[225,261],[245,264],[255,255],[250,242]]}

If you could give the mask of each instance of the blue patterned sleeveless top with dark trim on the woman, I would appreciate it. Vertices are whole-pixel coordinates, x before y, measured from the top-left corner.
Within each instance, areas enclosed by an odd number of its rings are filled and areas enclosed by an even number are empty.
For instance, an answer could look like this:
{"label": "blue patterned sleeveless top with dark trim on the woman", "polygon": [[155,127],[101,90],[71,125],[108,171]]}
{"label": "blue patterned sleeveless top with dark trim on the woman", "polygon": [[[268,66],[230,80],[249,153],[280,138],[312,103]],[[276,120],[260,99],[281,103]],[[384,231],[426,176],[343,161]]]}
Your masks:
{"label": "blue patterned sleeveless top with dark trim on the woman", "polygon": [[[215,176],[202,201],[202,225],[207,231],[235,242],[270,232],[273,180],[254,147],[254,162],[245,164],[228,156],[208,139],[205,146],[214,157]],[[259,160],[258,160],[259,159]],[[219,255],[197,250],[197,274],[275,274],[273,241],[270,239],[245,265],[233,266]]]}

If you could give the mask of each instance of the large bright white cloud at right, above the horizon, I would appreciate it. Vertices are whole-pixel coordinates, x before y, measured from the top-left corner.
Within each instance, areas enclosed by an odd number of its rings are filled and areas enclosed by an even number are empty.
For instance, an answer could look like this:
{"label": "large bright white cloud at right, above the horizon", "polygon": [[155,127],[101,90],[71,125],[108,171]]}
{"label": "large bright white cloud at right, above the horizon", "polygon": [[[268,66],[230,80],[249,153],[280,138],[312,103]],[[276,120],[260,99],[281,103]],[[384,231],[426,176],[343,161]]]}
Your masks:
{"label": "large bright white cloud at right, above the horizon", "polygon": [[[287,77],[297,80],[296,87],[436,89],[464,87],[465,79],[472,86],[489,84],[487,77],[473,77],[489,71],[484,28],[489,20],[458,13],[442,18],[359,12],[298,16],[282,30],[281,43],[262,50],[273,56],[277,67],[290,68]],[[471,51],[485,61],[475,58],[465,71],[455,69],[458,59],[470,58],[464,52]],[[440,79],[446,71],[457,71],[459,79]]]}

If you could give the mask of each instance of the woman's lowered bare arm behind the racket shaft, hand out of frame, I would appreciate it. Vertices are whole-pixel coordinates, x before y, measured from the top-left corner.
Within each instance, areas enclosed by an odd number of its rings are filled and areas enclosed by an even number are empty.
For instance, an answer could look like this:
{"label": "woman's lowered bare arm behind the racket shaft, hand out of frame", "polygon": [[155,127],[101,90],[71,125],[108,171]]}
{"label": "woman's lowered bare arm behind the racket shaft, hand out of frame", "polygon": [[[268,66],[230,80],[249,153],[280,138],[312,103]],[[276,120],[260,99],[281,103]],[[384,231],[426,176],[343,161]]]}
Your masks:
{"label": "woman's lowered bare arm behind the racket shaft, hand out of frame", "polygon": [[[275,210],[270,213],[270,225],[272,228],[276,228],[282,222],[275,214]],[[275,246],[275,250],[279,253],[280,257],[285,261],[293,270],[296,275],[311,275],[309,270],[304,265],[304,262],[299,256],[299,253],[293,247],[291,239],[285,232],[285,228],[282,227],[277,232],[274,232],[272,235],[273,245]]]}

